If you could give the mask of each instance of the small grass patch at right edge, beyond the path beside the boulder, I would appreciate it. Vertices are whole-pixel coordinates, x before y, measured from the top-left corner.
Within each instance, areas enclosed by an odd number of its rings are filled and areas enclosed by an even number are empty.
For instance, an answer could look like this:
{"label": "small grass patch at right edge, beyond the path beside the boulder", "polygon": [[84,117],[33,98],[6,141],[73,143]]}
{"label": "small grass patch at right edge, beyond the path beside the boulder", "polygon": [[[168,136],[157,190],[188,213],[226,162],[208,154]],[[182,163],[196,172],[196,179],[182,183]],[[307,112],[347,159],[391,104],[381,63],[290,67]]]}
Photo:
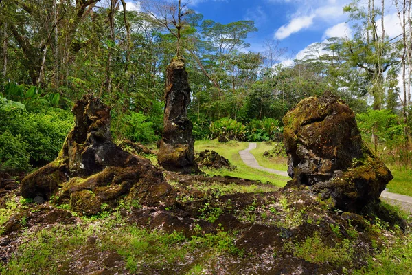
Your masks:
{"label": "small grass patch at right edge, beyond the path beside the boulder", "polygon": [[389,192],[412,196],[412,170],[389,166],[393,179],[387,185]]}

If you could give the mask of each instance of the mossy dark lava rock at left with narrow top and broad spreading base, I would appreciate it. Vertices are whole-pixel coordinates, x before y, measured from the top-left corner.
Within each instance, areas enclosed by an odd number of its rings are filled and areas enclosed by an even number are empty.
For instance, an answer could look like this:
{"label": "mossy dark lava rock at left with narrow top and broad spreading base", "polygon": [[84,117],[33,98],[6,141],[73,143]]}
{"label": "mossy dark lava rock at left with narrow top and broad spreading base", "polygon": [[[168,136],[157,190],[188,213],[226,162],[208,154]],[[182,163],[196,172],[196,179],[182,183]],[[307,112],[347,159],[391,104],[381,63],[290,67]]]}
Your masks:
{"label": "mossy dark lava rock at left with narrow top and broad spreading base", "polygon": [[73,107],[76,125],[54,162],[27,175],[21,195],[68,204],[79,214],[98,214],[121,200],[146,206],[172,206],[175,193],[148,159],[111,141],[110,108],[84,96]]}

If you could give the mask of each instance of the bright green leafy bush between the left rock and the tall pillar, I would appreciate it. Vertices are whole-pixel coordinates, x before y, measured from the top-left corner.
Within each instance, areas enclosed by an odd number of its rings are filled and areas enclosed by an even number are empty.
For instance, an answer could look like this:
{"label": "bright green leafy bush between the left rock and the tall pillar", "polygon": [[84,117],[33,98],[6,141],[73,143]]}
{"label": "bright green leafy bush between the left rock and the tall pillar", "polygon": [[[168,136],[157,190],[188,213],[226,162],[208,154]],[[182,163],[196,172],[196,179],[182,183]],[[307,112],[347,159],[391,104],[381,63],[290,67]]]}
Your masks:
{"label": "bright green leafy bush between the left rock and the tall pillar", "polygon": [[[117,121],[116,121],[117,120]],[[159,140],[153,129],[153,122],[143,113],[130,112],[115,118],[113,132],[119,136],[126,137],[133,142],[148,144]]]}

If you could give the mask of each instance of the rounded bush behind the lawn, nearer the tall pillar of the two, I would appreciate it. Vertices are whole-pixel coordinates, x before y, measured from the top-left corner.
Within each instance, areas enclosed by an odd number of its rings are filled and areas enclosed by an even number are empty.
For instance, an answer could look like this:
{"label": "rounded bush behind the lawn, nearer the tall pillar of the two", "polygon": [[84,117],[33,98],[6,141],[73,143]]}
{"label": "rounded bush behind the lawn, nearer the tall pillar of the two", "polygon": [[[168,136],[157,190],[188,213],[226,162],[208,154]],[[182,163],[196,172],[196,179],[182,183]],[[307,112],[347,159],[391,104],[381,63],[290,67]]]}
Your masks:
{"label": "rounded bush behind the lawn, nearer the tall pillar of the two", "polygon": [[244,140],[246,127],[231,118],[220,118],[211,122],[211,137],[227,137],[229,140]]}

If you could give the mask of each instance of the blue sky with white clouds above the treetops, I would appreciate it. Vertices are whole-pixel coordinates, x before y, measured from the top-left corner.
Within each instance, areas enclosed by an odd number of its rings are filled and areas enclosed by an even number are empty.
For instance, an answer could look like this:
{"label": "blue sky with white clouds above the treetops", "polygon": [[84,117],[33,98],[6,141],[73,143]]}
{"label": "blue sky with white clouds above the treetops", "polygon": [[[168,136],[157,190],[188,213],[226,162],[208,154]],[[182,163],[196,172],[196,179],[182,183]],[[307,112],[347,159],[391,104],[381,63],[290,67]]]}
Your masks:
{"label": "blue sky with white clouds above the treetops", "polygon": [[[380,1],[375,0],[376,7],[380,7]],[[351,0],[182,0],[182,3],[187,2],[189,8],[203,14],[204,19],[224,24],[255,21],[259,31],[247,39],[251,44],[247,50],[262,52],[265,39],[279,40],[279,47],[288,49],[283,60],[303,58],[312,43],[332,36],[351,38],[353,34],[350,23],[346,23],[347,14],[343,12],[343,7]],[[394,37],[401,32],[396,8],[391,0],[385,3],[385,32]],[[361,0],[361,5],[366,6],[367,0]]]}

